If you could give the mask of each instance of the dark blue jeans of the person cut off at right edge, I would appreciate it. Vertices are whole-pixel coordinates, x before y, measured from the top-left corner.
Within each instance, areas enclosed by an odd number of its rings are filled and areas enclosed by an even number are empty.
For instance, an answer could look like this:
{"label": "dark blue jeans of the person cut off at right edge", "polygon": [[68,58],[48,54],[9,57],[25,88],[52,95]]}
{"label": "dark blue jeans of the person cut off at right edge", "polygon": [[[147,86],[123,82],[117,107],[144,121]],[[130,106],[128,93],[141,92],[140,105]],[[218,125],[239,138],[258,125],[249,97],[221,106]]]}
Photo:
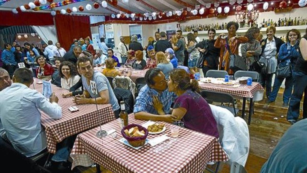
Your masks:
{"label": "dark blue jeans of the person cut off at right edge", "polygon": [[287,112],[287,120],[297,120],[300,116],[300,103],[304,94],[303,118],[307,118],[307,74],[294,71],[293,74],[293,93]]}

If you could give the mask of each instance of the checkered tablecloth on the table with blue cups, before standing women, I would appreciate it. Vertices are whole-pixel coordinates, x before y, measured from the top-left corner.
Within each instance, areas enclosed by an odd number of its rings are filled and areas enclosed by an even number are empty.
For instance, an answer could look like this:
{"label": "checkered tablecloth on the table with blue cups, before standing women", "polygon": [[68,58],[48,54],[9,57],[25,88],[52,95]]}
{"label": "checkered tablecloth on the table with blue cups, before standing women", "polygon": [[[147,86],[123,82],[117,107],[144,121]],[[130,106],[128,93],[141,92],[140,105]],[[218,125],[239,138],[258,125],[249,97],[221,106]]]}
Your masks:
{"label": "checkered tablecloth on the table with blue cups, before standing women", "polygon": [[200,89],[216,91],[222,93],[228,93],[230,95],[253,98],[256,91],[264,90],[263,87],[258,82],[253,82],[251,86],[240,85],[239,87],[233,87],[233,85],[223,85],[223,84],[213,84],[213,83],[203,83],[199,82]]}

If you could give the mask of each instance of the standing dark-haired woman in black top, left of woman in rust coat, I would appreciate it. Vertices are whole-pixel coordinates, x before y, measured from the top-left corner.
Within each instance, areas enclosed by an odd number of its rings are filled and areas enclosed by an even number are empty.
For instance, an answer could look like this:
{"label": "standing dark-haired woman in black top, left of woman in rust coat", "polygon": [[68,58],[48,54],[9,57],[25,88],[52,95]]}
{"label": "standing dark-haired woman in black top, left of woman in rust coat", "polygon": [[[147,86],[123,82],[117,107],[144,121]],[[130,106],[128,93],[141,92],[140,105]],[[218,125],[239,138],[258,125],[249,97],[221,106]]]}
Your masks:
{"label": "standing dark-haired woman in black top, left of woman in rust coat", "polygon": [[217,70],[217,66],[219,64],[220,48],[214,47],[214,43],[216,41],[214,39],[215,35],[216,35],[215,29],[209,29],[208,30],[209,39],[201,41],[196,44],[196,48],[200,52],[206,54],[203,66],[204,76],[206,76],[208,70]]}

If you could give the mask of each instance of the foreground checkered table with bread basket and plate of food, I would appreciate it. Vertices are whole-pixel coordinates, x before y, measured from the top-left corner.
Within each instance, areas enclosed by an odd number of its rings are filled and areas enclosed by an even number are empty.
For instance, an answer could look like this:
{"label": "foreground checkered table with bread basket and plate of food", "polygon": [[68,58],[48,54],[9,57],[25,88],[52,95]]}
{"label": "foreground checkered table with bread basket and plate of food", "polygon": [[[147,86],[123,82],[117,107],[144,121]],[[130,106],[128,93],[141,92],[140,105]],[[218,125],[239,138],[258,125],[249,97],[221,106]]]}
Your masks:
{"label": "foreground checkered table with bread basket and plate of food", "polygon": [[[112,172],[202,172],[208,162],[227,161],[218,140],[170,123],[128,115],[129,125],[114,120],[79,134],[71,152],[73,167],[96,163]],[[99,169],[99,166],[97,167]]]}

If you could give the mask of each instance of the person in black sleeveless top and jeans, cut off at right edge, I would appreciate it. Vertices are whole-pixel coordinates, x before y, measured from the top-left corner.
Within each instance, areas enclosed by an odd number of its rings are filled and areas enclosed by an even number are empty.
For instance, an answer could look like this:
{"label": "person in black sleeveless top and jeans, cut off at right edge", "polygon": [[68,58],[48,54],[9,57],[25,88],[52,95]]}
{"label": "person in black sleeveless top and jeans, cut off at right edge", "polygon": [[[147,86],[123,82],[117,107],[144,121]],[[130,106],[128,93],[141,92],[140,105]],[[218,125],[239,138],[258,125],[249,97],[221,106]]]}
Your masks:
{"label": "person in black sleeveless top and jeans, cut off at right edge", "polygon": [[291,95],[287,120],[293,124],[300,115],[300,103],[304,93],[303,119],[307,118],[307,28],[299,44],[300,57],[293,70],[293,93]]}

